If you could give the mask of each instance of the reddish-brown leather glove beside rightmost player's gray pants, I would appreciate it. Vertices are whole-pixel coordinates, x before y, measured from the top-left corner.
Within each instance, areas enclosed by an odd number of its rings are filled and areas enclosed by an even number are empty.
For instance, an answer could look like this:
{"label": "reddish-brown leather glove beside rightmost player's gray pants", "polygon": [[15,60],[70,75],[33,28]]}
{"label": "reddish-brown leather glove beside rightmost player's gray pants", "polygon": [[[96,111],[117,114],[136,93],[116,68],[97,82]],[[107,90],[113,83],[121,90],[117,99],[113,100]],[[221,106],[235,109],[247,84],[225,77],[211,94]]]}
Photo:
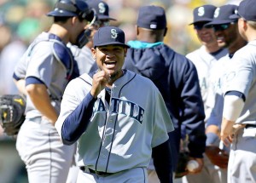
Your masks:
{"label": "reddish-brown leather glove beside rightmost player's gray pants", "polygon": [[207,146],[206,155],[212,162],[221,169],[227,169],[229,162],[229,155],[224,150],[218,148],[218,146]]}

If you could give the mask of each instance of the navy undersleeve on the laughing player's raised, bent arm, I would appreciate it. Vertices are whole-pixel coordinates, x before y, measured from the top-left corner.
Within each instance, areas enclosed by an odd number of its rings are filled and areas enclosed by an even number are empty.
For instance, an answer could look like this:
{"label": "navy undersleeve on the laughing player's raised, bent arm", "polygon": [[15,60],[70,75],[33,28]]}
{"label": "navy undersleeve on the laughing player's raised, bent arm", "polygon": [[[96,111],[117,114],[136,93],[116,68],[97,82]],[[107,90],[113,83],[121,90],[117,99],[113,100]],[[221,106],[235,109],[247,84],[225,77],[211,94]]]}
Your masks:
{"label": "navy undersleeve on the laughing player's raised, bent arm", "polygon": [[63,144],[72,145],[84,133],[90,122],[95,101],[96,99],[89,92],[79,106],[64,120],[61,129]]}

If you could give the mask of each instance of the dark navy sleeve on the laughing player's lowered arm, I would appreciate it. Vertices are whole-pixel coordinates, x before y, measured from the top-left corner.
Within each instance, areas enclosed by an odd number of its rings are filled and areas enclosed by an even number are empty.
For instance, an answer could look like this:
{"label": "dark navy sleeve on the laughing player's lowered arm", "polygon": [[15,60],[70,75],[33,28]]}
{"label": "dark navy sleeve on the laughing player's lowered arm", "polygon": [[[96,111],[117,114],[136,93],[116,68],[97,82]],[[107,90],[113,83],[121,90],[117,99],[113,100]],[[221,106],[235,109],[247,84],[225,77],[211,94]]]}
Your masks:
{"label": "dark navy sleeve on the laughing player's lowered arm", "polygon": [[172,183],[172,150],[169,140],[152,149],[154,169],[161,183]]}

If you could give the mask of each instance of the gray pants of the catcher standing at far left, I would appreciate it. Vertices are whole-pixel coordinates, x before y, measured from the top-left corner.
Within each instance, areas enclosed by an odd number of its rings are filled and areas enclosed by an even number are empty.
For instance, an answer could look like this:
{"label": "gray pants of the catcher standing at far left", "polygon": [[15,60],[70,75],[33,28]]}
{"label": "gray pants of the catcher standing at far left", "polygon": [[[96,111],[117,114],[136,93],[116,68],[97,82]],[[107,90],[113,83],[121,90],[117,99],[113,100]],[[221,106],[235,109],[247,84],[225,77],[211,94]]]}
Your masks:
{"label": "gray pants of the catcher standing at far left", "polygon": [[74,146],[64,146],[55,127],[38,118],[22,124],[16,148],[26,164],[30,183],[65,183],[73,163]]}

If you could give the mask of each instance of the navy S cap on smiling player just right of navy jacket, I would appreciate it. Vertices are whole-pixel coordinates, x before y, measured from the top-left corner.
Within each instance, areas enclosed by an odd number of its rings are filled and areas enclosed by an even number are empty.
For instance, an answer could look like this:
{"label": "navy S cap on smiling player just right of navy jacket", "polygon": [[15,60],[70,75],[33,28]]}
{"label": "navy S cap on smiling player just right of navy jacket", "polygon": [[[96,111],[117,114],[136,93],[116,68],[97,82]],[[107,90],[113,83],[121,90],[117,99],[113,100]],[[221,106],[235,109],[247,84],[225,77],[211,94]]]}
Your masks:
{"label": "navy S cap on smiling player just right of navy jacket", "polygon": [[197,7],[193,10],[194,20],[189,25],[202,22],[202,21],[212,21],[213,14],[216,7],[211,4],[206,4],[200,7]]}

